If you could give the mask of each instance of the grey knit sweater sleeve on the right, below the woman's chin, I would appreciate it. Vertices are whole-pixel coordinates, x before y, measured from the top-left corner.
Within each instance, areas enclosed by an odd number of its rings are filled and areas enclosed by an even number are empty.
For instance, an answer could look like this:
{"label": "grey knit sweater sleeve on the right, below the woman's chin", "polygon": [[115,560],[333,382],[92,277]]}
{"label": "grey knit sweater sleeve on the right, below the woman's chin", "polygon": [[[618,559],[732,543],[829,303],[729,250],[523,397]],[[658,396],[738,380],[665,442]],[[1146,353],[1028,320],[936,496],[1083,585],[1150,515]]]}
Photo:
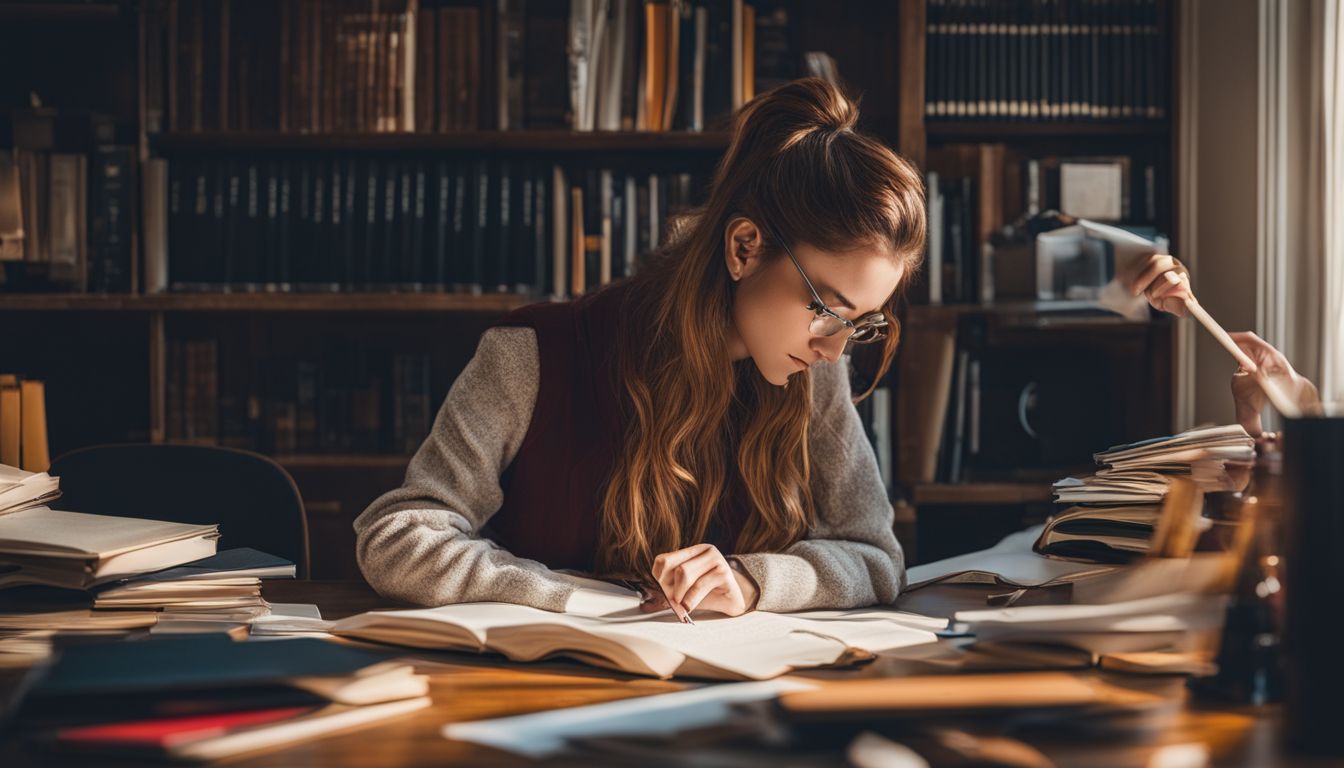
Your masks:
{"label": "grey knit sweater sleeve on the right, below the woman's chin", "polygon": [[784,551],[734,560],[761,588],[759,611],[892,603],[905,589],[905,554],[892,533],[876,456],[849,399],[848,360],[814,367],[812,387],[808,448],[816,523],[808,538]]}

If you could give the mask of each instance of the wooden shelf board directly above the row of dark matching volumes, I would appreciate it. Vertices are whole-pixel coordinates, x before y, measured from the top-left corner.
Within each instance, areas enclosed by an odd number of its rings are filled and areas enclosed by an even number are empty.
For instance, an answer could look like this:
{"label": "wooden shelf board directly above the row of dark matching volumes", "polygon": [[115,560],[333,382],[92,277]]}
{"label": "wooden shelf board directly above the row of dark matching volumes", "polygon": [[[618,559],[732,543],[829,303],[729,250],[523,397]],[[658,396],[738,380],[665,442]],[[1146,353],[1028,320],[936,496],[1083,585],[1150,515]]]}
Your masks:
{"label": "wooden shelf board directly above the row of dark matching volumes", "polygon": [[699,130],[461,130],[445,133],[160,133],[164,153],[218,151],[493,151],[493,152],[722,152],[726,132]]}

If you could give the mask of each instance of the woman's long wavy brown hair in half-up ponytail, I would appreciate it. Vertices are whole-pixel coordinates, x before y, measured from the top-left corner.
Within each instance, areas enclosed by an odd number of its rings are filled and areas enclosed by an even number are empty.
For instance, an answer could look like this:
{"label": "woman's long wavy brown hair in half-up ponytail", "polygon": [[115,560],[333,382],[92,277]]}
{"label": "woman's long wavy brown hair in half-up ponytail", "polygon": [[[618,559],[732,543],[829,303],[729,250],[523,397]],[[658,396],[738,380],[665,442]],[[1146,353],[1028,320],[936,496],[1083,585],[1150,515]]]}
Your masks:
{"label": "woman's long wavy brown hair in half-up ponytail", "polygon": [[[777,551],[806,535],[809,373],[777,387],[750,359],[730,360],[734,282],[723,241],[728,222],[746,217],[790,245],[882,245],[905,265],[906,282],[923,254],[923,184],[913,165],[857,133],[857,118],[855,102],[817,78],[745,105],[708,200],[630,280],[614,371],[629,420],[602,500],[599,572],[648,581],[655,555],[704,541],[732,471],[751,504],[737,551]],[[782,252],[766,238],[762,253]],[[895,301],[883,307],[892,332],[878,378],[896,350]]]}

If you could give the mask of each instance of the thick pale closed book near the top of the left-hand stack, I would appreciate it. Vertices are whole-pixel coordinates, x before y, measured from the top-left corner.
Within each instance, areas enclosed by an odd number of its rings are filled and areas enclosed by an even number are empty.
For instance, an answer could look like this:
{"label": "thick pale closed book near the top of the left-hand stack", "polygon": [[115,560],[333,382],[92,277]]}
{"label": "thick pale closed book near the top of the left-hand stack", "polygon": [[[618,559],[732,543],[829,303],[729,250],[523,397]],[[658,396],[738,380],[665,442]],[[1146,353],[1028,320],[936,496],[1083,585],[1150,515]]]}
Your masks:
{"label": "thick pale closed book near the top of the left-hand stack", "polygon": [[86,589],[215,554],[219,526],[36,507],[0,515],[0,586]]}

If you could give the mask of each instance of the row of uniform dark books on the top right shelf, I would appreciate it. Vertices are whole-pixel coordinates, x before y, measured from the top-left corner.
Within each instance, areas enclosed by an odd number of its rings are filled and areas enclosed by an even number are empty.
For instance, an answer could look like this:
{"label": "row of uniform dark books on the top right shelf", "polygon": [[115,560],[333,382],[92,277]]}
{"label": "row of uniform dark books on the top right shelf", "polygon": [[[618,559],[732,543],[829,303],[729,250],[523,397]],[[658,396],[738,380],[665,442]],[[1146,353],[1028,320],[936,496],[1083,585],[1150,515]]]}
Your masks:
{"label": "row of uniform dark books on the top right shelf", "polygon": [[929,0],[925,114],[937,120],[1163,120],[1157,0]]}

